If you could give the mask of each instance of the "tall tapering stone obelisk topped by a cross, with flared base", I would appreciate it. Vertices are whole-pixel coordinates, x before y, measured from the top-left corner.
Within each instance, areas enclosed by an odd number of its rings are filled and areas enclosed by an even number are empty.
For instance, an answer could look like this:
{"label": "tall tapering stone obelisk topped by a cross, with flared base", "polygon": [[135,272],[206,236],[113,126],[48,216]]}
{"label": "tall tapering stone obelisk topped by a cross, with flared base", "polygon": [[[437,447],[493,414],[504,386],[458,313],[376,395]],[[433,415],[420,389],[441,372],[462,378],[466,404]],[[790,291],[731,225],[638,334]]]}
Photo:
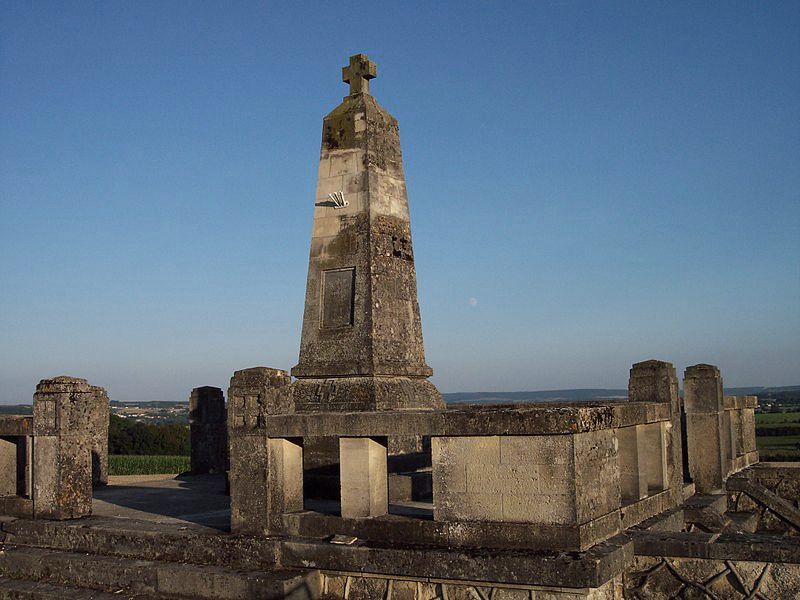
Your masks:
{"label": "tall tapering stone obelisk topped by a cross, with flared base", "polygon": [[350,95],[323,121],[298,410],[434,408],[397,120],[369,94],[375,63],[350,57]]}

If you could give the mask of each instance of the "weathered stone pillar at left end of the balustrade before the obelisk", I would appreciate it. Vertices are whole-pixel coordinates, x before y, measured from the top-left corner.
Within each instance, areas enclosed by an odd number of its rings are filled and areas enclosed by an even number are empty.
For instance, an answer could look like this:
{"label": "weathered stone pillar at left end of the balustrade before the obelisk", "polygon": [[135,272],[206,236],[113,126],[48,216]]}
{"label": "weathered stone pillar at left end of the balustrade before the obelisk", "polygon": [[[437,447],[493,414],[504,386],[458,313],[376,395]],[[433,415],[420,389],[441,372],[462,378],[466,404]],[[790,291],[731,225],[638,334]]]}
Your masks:
{"label": "weathered stone pillar at left end of the balustrade before the obelisk", "polygon": [[266,416],[294,412],[286,371],[253,367],[236,371],[228,389],[231,532],[269,532]]}

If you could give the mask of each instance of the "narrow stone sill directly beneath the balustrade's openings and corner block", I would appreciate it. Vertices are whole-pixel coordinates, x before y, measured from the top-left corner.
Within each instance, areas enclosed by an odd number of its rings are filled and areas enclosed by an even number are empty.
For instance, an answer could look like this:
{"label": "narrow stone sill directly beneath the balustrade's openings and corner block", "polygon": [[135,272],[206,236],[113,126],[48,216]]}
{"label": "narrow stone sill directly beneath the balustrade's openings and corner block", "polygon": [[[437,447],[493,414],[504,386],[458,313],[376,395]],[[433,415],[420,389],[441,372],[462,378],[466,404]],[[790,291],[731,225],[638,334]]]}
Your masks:
{"label": "narrow stone sill directly beneath the balustrade's openings and corner block", "polygon": [[315,512],[283,515],[284,535],[321,537],[343,534],[362,540],[455,548],[536,548],[585,550],[620,530],[619,511],[582,525],[502,523],[494,521],[430,521],[395,515],[344,519]]}

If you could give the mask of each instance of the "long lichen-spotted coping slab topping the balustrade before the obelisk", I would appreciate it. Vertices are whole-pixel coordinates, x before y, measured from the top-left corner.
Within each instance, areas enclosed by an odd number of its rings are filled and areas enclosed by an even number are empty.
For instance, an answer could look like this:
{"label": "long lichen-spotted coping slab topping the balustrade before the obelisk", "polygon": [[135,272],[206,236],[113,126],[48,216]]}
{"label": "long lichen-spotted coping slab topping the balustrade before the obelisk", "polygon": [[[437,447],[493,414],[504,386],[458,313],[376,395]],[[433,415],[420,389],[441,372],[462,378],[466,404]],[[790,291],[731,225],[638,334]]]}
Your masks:
{"label": "long lichen-spotted coping slab topping the balustrade before the obelisk", "polygon": [[525,404],[272,415],[266,431],[269,437],[568,435],[668,419],[669,405],[657,402]]}

